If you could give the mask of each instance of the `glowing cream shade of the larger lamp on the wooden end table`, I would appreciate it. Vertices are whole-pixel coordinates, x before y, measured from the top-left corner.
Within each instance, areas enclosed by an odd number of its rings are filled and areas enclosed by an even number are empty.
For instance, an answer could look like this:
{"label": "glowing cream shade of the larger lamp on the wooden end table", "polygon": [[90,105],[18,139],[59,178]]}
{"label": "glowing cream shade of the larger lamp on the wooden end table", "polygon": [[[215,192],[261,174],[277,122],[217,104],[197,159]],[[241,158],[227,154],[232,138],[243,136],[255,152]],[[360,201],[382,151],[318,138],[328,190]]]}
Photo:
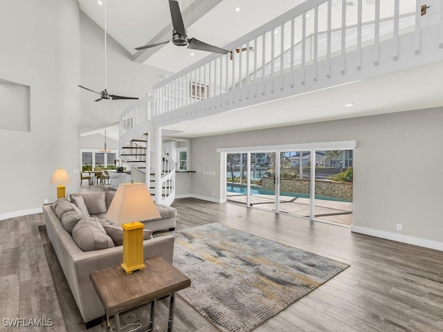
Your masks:
{"label": "glowing cream shade of the larger lamp on the wooden end table", "polygon": [[121,183],[106,217],[116,223],[132,223],[161,216],[145,183]]}

